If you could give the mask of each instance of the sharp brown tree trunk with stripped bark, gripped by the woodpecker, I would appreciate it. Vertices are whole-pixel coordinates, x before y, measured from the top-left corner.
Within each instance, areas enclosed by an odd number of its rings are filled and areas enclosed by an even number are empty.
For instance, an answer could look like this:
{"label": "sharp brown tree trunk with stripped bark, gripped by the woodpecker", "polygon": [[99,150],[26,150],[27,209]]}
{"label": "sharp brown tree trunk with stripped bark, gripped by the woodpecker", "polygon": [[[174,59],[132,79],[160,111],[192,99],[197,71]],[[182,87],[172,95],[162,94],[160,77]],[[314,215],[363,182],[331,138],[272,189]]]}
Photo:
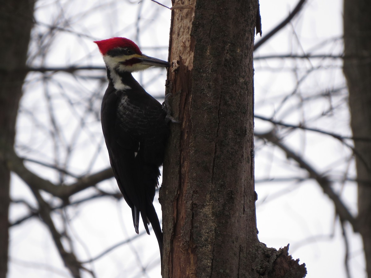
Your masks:
{"label": "sharp brown tree trunk with stripped bark, gripped by the woodpecker", "polygon": [[[274,273],[283,265],[277,258],[289,258],[287,248],[266,248],[256,228],[258,1],[195,2],[173,6],[172,14],[169,60],[178,66],[169,71],[168,93],[181,123],[171,125],[160,190],[162,277],[283,277]],[[285,277],[304,277],[299,268]]]}

